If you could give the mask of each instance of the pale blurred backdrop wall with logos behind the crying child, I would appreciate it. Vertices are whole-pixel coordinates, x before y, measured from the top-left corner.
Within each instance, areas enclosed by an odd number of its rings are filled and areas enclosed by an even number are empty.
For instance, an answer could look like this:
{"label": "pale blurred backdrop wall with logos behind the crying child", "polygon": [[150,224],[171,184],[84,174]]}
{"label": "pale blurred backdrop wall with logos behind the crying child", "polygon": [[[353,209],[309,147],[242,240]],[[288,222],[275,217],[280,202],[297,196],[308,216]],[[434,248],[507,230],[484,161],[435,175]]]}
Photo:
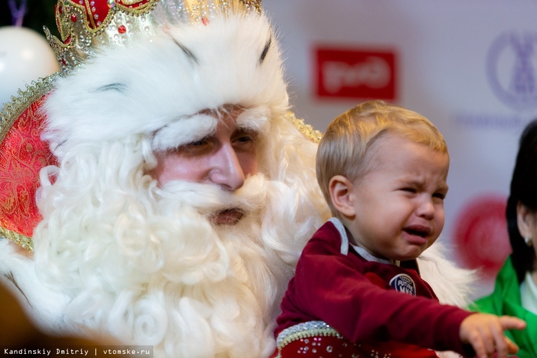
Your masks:
{"label": "pale blurred backdrop wall with logos behind the crying child", "polygon": [[[368,95],[366,81],[357,80],[348,86],[359,92],[354,98],[318,96],[319,48],[393,57],[394,95],[385,99],[432,120],[450,149],[440,240],[454,246],[453,259],[461,265],[481,267],[476,295],[492,289],[510,250],[504,210],[518,137],[537,118],[537,0],[263,4],[282,39],[295,112],[319,130],[377,95],[374,86]],[[346,66],[356,69],[361,61],[350,59]]]}

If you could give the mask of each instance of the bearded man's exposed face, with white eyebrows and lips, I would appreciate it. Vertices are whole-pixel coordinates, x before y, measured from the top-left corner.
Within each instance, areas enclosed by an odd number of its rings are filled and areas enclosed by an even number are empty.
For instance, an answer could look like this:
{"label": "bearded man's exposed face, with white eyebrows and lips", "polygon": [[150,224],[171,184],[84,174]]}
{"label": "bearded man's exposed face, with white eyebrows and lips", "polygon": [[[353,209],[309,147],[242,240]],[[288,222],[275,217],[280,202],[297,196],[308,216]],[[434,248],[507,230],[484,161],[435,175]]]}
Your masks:
{"label": "bearded man's exposed face, with white eyebrows and lips", "polygon": [[[217,116],[202,112],[189,118],[193,121],[192,135],[185,136],[185,126],[165,127],[159,138],[188,138],[171,145],[160,145],[155,151],[156,168],[149,174],[160,185],[173,180],[186,180],[218,185],[224,191],[236,191],[244,180],[257,173],[257,135],[259,121],[253,120],[248,111],[232,109]],[[177,132],[177,133],[175,133]],[[242,217],[234,211],[222,212],[213,222],[234,224]]]}

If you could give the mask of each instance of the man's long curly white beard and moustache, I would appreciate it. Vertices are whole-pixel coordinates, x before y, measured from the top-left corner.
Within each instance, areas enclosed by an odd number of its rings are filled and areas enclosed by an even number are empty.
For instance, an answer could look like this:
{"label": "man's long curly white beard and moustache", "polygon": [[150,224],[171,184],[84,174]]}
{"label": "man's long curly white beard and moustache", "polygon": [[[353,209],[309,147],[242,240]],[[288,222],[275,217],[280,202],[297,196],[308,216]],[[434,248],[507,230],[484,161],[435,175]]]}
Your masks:
{"label": "man's long curly white beard and moustache", "polygon": [[[262,174],[235,193],[159,188],[140,169],[146,145],[101,143],[98,156],[82,147],[49,169],[34,262],[70,301],[61,319],[154,346],[155,357],[268,357],[286,283],[324,220],[319,207]],[[229,207],[246,215],[213,226],[211,213]]]}

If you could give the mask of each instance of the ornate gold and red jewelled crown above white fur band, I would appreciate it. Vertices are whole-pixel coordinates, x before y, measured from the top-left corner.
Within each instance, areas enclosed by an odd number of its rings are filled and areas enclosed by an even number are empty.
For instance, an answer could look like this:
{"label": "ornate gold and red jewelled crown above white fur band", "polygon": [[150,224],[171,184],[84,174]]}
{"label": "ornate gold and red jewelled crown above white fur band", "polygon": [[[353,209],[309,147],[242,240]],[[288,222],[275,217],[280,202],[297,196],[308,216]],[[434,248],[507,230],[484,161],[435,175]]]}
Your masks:
{"label": "ornate gold and red jewelled crown above white fur band", "polygon": [[261,0],[59,0],[56,25],[61,40],[44,30],[65,74],[101,45],[123,46],[167,24],[207,25],[222,14],[261,11]]}

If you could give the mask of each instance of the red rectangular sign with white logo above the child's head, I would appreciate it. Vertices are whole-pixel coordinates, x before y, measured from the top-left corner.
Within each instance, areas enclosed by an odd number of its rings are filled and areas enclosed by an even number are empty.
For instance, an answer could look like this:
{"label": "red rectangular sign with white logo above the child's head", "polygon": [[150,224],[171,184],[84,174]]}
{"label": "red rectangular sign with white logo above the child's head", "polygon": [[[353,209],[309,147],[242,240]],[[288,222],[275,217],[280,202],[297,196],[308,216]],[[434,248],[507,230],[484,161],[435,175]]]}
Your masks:
{"label": "red rectangular sign with white logo above the child's head", "polygon": [[364,50],[317,48],[317,96],[395,98],[395,54]]}

